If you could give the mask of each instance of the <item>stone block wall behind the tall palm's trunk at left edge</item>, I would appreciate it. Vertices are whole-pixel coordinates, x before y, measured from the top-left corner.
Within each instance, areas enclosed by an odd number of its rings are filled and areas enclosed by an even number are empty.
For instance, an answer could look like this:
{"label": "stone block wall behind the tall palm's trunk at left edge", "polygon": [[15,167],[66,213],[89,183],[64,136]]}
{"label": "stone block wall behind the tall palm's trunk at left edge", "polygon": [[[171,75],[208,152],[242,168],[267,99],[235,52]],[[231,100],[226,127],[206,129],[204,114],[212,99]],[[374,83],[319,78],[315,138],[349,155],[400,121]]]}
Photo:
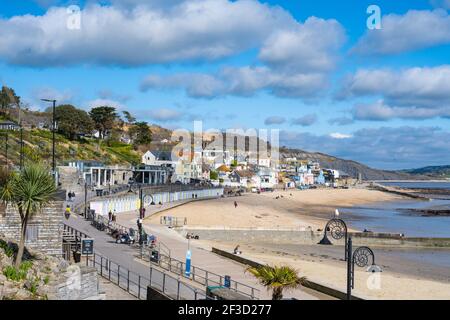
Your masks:
{"label": "stone block wall behind the tall palm's trunk at left edge", "polygon": [[[63,201],[51,202],[28,222],[29,238],[25,246],[49,255],[62,255]],[[0,233],[7,238],[20,240],[20,216],[12,205],[0,207]]]}

